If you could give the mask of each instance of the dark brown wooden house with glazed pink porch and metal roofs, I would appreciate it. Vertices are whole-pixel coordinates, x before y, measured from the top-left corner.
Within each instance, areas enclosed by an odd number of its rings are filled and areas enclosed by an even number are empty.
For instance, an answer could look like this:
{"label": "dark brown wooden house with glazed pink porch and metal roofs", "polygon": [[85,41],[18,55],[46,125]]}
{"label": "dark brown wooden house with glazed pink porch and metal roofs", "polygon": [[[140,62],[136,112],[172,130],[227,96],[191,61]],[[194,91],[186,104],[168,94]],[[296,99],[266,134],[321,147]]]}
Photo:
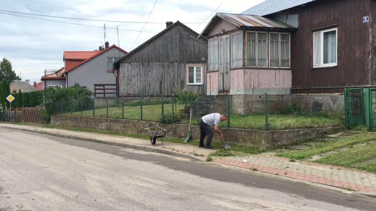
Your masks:
{"label": "dark brown wooden house with glazed pink porch and metal roofs", "polygon": [[376,86],[375,13],[375,0],[266,0],[217,13],[199,36],[209,43],[208,94]]}

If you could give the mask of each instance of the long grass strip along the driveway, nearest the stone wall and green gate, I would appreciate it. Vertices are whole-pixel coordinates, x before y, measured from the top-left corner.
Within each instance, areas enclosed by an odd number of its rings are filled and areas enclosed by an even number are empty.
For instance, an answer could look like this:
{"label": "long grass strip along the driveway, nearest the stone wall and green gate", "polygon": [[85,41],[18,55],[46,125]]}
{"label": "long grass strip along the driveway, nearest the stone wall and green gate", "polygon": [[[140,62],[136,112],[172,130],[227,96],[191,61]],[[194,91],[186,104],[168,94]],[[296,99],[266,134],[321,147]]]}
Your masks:
{"label": "long grass strip along the driveway, nearest the stone wall and green gate", "polygon": [[324,152],[334,151],[335,149],[340,149],[345,146],[352,146],[356,143],[367,143],[374,139],[375,133],[362,133],[350,137],[342,137],[329,142],[317,143],[307,149],[296,149],[291,152],[277,153],[277,156],[293,159],[304,159]]}

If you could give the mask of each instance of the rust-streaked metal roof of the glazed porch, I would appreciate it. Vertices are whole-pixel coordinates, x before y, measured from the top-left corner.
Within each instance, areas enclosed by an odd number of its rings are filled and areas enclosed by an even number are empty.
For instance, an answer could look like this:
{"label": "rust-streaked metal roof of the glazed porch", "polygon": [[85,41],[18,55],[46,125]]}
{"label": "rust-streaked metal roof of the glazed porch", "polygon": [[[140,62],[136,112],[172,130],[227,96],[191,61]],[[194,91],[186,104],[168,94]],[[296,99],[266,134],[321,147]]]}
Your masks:
{"label": "rust-streaked metal roof of the glazed porch", "polygon": [[294,27],[279,22],[277,20],[271,20],[268,18],[260,17],[257,15],[240,15],[240,14],[226,14],[217,13],[218,17],[223,18],[226,21],[236,25],[237,27],[269,27],[269,28],[292,28]]}

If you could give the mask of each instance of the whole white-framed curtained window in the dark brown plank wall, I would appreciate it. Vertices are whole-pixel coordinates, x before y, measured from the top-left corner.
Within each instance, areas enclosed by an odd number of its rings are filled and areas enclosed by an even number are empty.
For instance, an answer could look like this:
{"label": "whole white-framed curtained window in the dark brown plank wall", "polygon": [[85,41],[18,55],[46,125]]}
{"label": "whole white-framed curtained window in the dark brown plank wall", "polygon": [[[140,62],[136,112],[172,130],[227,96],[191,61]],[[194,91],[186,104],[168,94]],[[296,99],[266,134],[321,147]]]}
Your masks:
{"label": "whole white-framed curtained window in the dark brown plank wall", "polygon": [[337,28],[313,33],[313,67],[337,65]]}

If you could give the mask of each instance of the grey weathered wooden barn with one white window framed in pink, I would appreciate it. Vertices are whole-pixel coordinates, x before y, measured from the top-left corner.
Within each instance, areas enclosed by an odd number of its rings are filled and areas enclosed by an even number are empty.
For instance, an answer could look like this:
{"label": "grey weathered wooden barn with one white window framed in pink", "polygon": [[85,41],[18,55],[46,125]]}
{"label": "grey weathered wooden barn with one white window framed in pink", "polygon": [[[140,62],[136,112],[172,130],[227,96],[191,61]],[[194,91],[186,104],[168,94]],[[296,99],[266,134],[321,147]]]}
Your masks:
{"label": "grey weathered wooden barn with one white window framed in pink", "polygon": [[208,46],[198,33],[179,21],[115,62],[119,96],[171,95],[173,86],[196,94],[206,81]]}

